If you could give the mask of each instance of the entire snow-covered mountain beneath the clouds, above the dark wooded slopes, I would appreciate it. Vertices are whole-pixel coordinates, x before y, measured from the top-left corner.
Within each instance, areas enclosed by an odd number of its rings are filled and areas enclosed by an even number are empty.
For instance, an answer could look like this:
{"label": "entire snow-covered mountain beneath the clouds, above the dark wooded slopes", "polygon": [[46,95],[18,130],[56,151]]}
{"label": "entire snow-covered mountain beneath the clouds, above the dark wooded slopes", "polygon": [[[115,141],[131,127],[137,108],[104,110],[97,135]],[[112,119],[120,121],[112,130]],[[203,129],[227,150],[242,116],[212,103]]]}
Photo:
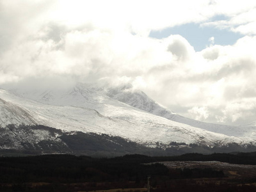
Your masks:
{"label": "entire snow-covered mountain beneath the clouds, above the dark wooded slopes", "polygon": [[163,108],[140,90],[132,90],[130,85],[109,88],[79,83],[68,90],[0,90],[0,109],[1,127],[45,125],[66,132],[120,136],[147,145],[173,141],[208,146],[256,143],[253,127],[241,129],[189,120]]}

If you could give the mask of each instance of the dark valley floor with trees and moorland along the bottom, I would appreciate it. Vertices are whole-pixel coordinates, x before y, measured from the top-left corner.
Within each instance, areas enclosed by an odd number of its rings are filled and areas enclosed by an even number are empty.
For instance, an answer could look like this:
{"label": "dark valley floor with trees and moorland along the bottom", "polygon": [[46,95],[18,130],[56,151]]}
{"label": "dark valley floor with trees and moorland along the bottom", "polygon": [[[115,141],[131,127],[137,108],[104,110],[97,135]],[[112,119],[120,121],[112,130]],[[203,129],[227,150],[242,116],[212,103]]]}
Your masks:
{"label": "dark valley floor with trees and moorland along the bottom", "polygon": [[255,191],[256,154],[0,157],[1,191]]}

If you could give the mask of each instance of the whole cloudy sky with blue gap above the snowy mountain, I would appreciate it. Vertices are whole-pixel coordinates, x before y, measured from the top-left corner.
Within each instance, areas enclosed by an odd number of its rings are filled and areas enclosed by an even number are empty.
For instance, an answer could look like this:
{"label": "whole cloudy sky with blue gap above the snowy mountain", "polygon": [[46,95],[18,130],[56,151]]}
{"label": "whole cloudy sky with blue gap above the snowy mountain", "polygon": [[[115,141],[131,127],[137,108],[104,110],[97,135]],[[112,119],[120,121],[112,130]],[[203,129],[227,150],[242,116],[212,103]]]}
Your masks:
{"label": "whole cloudy sky with blue gap above the snowy mountain", "polygon": [[256,121],[256,2],[0,1],[0,87],[131,83],[179,115]]}

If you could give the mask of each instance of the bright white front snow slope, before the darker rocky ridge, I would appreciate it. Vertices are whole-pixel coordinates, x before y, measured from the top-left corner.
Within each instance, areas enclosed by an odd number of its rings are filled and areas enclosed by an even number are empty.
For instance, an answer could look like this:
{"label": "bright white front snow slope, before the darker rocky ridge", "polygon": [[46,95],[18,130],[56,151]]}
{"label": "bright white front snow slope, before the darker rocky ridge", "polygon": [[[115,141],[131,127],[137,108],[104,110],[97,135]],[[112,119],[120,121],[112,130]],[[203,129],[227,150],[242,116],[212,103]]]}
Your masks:
{"label": "bright white front snow slope, before the darker rocky ridge", "polygon": [[[64,131],[111,134],[147,145],[171,141],[204,145],[254,142],[251,138],[230,137],[152,115],[111,99],[104,90],[96,90],[86,84],[78,84],[64,92],[47,90],[35,94],[22,93],[22,96],[1,90],[0,98],[21,111],[28,111],[36,124]],[[1,108],[9,110],[5,104],[1,104]],[[20,119],[19,124],[27,124],[21,118],[22,113],[15,116]],[[8,122],[8,118],[10,116],[0,116],[1,122]]]}

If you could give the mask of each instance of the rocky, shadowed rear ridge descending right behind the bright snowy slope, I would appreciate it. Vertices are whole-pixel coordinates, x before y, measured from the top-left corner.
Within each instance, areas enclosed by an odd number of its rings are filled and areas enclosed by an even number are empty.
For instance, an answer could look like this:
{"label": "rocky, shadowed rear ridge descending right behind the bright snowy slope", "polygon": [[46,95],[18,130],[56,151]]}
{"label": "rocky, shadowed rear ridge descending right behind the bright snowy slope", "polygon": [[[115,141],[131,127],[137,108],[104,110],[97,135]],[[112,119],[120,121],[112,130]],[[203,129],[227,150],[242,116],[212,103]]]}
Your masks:
{"label": "rocky, shadowed rear ridge descending right behind the bright snowy slope", "polygon": [[200,122],[184,116],[180,116],[176,113],[170,111],[170,109],[164,108],[163,106],[157,104],[156,101],[150,99],[141,90],[133,90],[131,85],[118,86],[115,88],[105,89],[106,95],[109,97],[129,104],[134,108],[138,108],[144,111],[148,111],[157,116],[162,116],[168,120],[179,122],[182,124],[191,125],[193,127],[198,127],[211,132],[218,132],[225,134],[227,136],[236,136],[243,138],[252,137],[253,140],[256,139],[256,127],[252,124],[246,126],[230,126],[230,125],[220,125],[220,124],[209,124],[205,122]]}

